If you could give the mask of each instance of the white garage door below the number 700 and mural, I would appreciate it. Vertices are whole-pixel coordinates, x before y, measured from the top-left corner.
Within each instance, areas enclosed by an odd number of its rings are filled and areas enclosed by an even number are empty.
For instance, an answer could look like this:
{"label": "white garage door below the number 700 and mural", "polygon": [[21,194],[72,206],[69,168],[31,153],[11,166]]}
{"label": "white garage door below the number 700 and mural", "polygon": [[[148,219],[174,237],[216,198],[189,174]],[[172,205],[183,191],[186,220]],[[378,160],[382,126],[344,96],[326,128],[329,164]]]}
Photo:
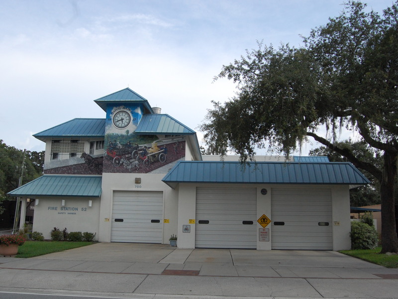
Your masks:
{"label": "white garage door below the number 700 and mural", "polygon": [[162,243],[163,192],[114,191],[110,241]]}

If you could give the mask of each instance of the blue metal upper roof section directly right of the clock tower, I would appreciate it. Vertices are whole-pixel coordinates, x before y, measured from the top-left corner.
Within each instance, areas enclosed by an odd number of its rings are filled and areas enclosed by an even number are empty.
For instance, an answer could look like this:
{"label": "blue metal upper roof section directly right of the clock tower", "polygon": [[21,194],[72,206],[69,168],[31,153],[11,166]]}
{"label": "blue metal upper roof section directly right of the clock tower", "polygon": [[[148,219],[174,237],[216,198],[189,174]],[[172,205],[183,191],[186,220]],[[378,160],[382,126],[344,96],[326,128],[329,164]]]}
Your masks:
{"label": "blue metal upper roof section directly right of the clock tower", "polygon": [[139,134],[195,134],[168,114],[144,114],[135,133]]}

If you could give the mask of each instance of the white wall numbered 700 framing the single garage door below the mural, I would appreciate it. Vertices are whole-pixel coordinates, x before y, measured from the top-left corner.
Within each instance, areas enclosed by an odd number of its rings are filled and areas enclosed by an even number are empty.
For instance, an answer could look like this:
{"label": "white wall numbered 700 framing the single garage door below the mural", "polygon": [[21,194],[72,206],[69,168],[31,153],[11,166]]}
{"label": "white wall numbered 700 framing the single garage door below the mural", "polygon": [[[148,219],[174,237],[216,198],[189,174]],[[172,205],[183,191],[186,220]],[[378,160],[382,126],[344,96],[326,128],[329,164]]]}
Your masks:
{"label": "white wall numbered 700 framing the single garage door below the mural", "polygon": [[[163,219],[169,223],[163,225],[163,243],[169,242],[172,234],[177,234],[178,192],[170,188],[162,178],[165,174],[151,173],[103,173],[102,195],[100,207],[100,242],[110,242],[112,225],[113,191],[162,191]],[[135,184],[135,178],[141,178],[140,184]],[[164,222],[164,221],[163,221]]]}

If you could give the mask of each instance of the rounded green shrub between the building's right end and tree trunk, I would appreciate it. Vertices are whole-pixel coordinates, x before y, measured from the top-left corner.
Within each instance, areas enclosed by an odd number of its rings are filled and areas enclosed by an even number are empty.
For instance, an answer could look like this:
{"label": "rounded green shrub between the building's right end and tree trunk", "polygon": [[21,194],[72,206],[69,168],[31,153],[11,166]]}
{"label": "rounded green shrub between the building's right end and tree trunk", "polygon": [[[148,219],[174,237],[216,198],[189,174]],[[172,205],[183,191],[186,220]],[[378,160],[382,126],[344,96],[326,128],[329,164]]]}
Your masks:
{"label": "rounded green shrub between the building's right end and tree trunk", "polygon": [[363,222],[351,222],[350,236],[352,249],[375,249],[378,243],[376,229]]}

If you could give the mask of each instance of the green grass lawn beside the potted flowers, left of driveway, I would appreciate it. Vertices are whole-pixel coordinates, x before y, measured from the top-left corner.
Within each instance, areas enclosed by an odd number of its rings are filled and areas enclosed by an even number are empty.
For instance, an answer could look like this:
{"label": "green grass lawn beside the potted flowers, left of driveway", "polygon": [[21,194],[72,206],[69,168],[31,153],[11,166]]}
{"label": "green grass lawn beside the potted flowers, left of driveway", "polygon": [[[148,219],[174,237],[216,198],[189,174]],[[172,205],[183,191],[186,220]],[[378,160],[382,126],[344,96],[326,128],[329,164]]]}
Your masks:
{"label": "green grass lawn beside the potted flowers, left of driveway", "polygon": [[94,244],[95,242],[65,242],[65,241],[26,241],[18,247],[16,258],[32,258],[48,253],[64,251]]}

